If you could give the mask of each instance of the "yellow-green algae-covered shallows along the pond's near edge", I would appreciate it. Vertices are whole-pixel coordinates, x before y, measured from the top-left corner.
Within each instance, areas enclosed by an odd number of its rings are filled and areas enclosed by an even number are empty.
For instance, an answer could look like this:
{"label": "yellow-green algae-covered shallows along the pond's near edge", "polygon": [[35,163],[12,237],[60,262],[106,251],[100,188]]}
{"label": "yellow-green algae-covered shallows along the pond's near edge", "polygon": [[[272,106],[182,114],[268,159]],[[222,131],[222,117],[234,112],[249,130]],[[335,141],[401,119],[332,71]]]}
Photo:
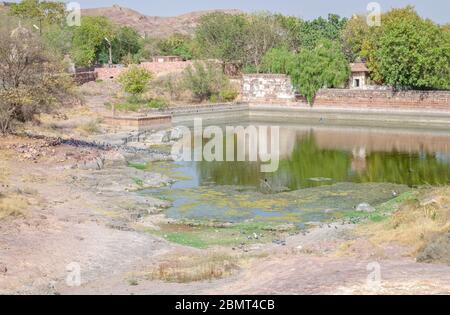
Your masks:
{"label": "yellow-green algae-covered shallows along the pond's near edge", "polygon": [[[154,197],[173,200],[165,211],[175,220],[215,220],[265,224],[291,223],[299,226],[355,216],[361,203],[389,208],[392,192],[409,191],[404,185],[384,183],[337,183],[276,194],[264,194],[240,186],[199,186],[163,189]],[[403,198],[403,197],[402,197]],[[401,201],[402,199],[399,198]],[[392,201],[395,203],[395,201]],[[367,214],[357,213],[357,216]],[[374,218],[376,219],[376,218]]]}

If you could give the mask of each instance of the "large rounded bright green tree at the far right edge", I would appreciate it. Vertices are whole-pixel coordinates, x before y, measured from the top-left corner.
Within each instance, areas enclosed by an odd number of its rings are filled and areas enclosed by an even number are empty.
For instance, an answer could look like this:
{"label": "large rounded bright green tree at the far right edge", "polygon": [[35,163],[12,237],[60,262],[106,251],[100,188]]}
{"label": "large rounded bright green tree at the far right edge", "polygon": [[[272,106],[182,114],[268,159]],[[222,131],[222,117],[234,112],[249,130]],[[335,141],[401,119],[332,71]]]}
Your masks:
{"label": "large rounded bright green tree at the far right edge", "polygon": [[412,7],[383,22],[372,52],[383,81],[395,88],[450,88],[450,34]]}

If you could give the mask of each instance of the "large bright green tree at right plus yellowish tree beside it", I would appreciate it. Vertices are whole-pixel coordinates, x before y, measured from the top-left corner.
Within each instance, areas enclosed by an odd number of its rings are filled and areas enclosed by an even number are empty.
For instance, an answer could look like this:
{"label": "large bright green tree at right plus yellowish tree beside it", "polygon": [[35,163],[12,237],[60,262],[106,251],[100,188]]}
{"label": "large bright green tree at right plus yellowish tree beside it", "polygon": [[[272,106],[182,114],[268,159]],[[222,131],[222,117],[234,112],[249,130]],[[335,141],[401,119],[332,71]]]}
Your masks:
{"label": "large bright green tree at right plus yellowish tree beside it", "polygon": [[347,23],[343,42],[350,60],[367,59],[375,82],[397,89],[450,88],[450,34],[413,7],[385,13],[380,27],[368,27],[356,16]]}

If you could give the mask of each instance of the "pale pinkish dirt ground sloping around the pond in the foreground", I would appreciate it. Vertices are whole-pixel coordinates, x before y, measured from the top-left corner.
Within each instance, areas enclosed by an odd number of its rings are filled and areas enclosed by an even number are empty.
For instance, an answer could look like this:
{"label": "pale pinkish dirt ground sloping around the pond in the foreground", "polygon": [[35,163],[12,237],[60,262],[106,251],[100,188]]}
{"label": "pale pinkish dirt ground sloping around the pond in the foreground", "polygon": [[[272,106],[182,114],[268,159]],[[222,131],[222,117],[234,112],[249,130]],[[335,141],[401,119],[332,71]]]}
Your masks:
{"label": "pale pinkish dirt ground sloping around the pond in the foreground", "polygon": [[[0,200],[10,198],[9,215],[0,213],[0,294],[450,294],[450,266],[417,263],[408,248],[338,223],[255,246],[221,279],[150,279],[168,256],[237,253],[135,229],[142,215],[161,220],[164,202],[134,193],[131,178],[148,187],[170,179],[126,167],[115,150],[8,136],[0,157]],[[101,170],[85,167],[98,159]],[[68,281],[78,271],[80,285]]]}

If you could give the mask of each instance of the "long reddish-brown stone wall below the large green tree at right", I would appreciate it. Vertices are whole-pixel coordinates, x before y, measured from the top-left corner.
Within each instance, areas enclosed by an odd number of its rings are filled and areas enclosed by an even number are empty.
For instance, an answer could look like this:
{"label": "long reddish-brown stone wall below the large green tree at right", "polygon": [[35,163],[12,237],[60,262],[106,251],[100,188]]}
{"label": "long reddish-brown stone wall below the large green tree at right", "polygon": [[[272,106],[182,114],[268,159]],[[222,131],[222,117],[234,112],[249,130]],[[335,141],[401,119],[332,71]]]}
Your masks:
{"label": "long reddish-brown stone wall below the large green tree at right", "polygon": [[450,111],[450,91],[323,89],[317,94],[314,107]]}

